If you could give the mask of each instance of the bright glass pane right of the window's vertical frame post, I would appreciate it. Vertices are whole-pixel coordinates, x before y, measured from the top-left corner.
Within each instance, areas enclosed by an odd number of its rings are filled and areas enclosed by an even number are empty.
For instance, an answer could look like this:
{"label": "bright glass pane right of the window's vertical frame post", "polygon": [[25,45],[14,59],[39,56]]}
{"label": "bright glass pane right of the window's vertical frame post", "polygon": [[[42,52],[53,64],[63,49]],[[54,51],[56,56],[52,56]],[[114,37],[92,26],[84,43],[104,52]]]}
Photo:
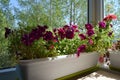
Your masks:
{"label": "bright glass pane right of the window's vertical frame post", "polygon": [[120,0],[104,0],[104,14],[115,14],[117,20],[113,21],[115,39],[120,39]]}

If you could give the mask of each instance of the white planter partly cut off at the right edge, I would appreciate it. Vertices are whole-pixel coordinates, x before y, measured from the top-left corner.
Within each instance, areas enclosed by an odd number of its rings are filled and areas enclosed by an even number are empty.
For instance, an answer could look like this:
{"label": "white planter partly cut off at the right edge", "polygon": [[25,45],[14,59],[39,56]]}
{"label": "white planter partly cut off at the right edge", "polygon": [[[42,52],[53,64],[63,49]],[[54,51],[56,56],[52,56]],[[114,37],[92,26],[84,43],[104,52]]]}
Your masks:
{"label": "white planter partly cut off at the right edge", "polygon": [[120,51],[112,51],[110,53],[111,66],[120,69]]}

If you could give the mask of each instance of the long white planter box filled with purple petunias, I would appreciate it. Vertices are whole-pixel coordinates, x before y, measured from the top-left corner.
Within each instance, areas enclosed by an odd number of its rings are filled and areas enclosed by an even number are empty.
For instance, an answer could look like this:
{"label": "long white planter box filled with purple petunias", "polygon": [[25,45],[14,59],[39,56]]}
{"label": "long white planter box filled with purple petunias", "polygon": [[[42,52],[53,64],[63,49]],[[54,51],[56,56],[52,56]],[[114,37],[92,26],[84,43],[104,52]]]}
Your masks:
{"label": "long white planter box filled with purple petunias", "polygon": [[69,56],[54,60],[21,61],[23,80],[54,80],[96,66],[99,54],[81,53],[80,57]]}

